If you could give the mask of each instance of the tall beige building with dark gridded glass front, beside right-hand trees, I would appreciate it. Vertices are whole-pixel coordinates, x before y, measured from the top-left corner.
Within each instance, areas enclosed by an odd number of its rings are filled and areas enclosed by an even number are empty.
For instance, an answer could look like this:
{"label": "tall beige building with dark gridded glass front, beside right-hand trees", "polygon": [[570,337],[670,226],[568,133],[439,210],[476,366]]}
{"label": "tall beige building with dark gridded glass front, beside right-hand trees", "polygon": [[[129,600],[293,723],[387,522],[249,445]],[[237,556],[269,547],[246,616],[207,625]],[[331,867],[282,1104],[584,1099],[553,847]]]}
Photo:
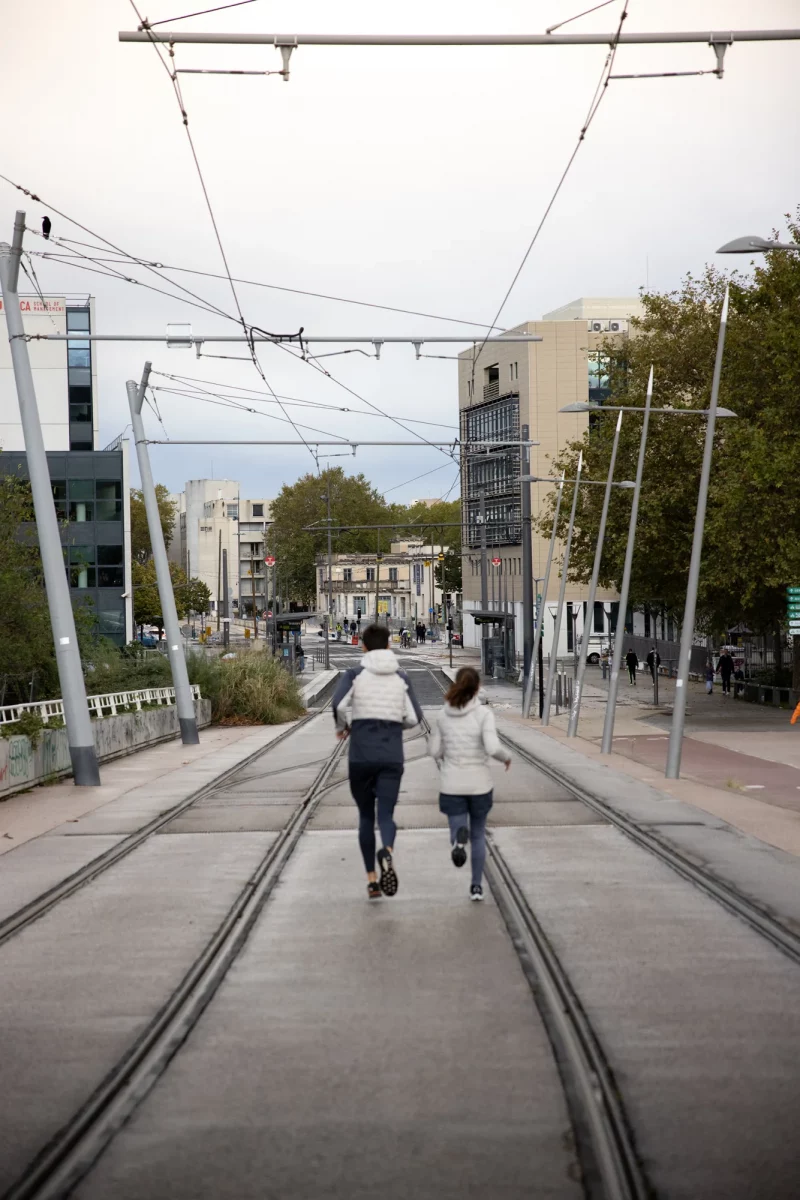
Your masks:
{"label": "tall beige building with dark gridded glass front, beside right-hand trees", "polygon": [[[498,342],[487,346],[473,362],[473,352],[461,354],[458,362],[458,408],[461,436],[465,446],[462,472],[463,605],[464,642],[480,643],[468,613],[481,607],[480,498],[486,504],[489,558],[488,607],[504,605],[516,616],[517,648],[522,649],[522,518],[519,450],[469,452],[470,442],[517,440],[524,425],[531,446],[534,475],[552,475],[553,461],[569,442],[583,436],[589,415],[561,413],[576,401],[602,401],[608,395],[608,366],[600,347],[612,336],[625,338],[630,318],[640,314],[642,305],[632,298],[583,298],[546,313],[541,320],[528,322],[509,332],[536,334],[542,341],[530,343]],[[551,486],[531,485],[534,518],[543,510]],[[565,500],[571,493],[565,491]],[[547,563],[548,539],[533,535],[535,594],[541,593]],[[499,559],[492,565],[492,558]],[[558,598],[558,558],[551,575],[548,610],[555,612]],[[493,604],[494,589],[494,604]],[[572,650],[573,637],[583,636],[584,616],[589,634],[599,643],[616,620],[613,607],[616,595],[597,593],[595,612],[584,614],[587,586],[567,584],[567,613],[563,622],[559,653]],[[603,607],[604,602],[604,607]],[[553,622],[543,626],[545,649],[549,650]]]}

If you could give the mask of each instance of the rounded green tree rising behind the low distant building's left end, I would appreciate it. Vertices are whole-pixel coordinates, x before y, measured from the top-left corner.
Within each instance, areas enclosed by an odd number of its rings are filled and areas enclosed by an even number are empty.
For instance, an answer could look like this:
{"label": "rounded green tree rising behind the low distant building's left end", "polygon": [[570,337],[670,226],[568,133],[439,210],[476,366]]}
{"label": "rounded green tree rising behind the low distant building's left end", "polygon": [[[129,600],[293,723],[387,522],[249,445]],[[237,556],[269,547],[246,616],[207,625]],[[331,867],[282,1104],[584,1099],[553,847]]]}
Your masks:
{"label": "rounded green tree rising behind the low distant building's left end", "polygon": [[[327,504],[323,499],[326,488],[335,528],[395,523],[401,529],[407,517],[403,508],[387,504],[363,475],[345,475],[341,467],[330,467],[319,475],[309,473],[282,487],[272,503],[267,546],[276,558],[283,594],[312,607],[317,601],[317,554],[327,550]],[[308,526],[317,528],[309,530]],[[392,529],[350,529],[333,535],[333,552],[387,551],[392,540],[397,540]]]}

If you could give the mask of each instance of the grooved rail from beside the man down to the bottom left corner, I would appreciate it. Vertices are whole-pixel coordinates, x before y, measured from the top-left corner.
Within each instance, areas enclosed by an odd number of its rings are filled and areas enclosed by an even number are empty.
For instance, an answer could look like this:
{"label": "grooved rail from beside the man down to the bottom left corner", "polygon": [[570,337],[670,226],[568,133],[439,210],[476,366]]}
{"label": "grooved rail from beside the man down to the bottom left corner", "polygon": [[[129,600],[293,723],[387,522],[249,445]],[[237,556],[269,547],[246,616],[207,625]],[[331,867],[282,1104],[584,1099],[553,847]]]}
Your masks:
{"label": "grooved rail from beside the man down to the bottom left corner", "polygon": [[2,1200],[66,1200],[145,1099],[191,1034],[247,942],[283,868],[317,811],[343,749],[344,744],[337,743],[223,922],[146,1030],[73,1118],[29,1164]]}

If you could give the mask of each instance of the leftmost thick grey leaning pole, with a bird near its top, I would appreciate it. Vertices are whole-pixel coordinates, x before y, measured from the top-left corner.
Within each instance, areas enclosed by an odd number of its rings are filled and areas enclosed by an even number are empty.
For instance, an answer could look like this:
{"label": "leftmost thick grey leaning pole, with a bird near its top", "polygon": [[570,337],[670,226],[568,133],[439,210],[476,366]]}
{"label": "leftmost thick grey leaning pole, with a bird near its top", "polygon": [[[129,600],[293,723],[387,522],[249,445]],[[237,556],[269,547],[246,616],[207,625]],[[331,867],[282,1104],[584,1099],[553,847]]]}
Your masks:
{"label": "leftmost thick grey leaning pole, with a bird near its top", "polygon": [[0,284],[11,348],[11,362],[19,397],[19,419],[25,440],[28,478],[36,515],[36,534],[42,558],[42,572],[53,629],[55,662],[64,700],[64,720],[67,727],[72,775],[79,787],[97,787],[100,768],[95,750],[95,734],[86,703],[86,685],[80,665],[80,649],[76,635],[74,613],[70,599],[70,583],[64,570],[61,535],[55,515],[50,472],[47,466],[44,438],[36,403],[34,376],[30,368],[28,343],[19,311],[18,276],[22,257],[25,214],[17,212],[12,245],[0,245]]}

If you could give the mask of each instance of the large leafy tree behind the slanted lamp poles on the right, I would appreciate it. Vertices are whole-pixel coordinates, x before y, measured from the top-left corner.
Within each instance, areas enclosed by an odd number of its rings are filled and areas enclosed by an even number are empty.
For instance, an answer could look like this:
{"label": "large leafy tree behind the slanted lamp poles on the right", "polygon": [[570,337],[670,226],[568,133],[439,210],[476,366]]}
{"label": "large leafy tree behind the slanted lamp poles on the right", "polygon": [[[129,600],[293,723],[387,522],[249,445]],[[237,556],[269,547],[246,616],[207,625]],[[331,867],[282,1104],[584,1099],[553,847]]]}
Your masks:
{"label": "large leafy tree behind the slanted lamp poles on the right", "polygon": [[[800,241],[800,210],[789,220]],[[786,586],[800,582],[800,254],[772,253],[752,278],[708,268],[667,294],[644,294],[644,316],[622,354],[609,342],[609,403],[644,404],[650,364],[654,404],[706,408],[726,282],[730,308],[720,404],[738,414],[721,420],[714,446],[711,485],[698,594],[698,628],[723,634],[744,622],[756,632],[776,632],[784,622]],[[610,418],[593,419],[583,440],[553,464],[603,479],[613,437]],[[625,415],[618,479],[632,479],[640,419]],[[686,595],[705,422],[697,416],[654,414],[644,466],[636,554],[631,578],[634,607],[656,604],[680,617]],[[570,576],[591,571],[602,491],[583,488],[576,515]],[[561,506],[561,533],[569,504]],[[627,541],[630,493],[612,498],[601,584],[619,587]],[[549,535],[552,505],[540,521]],[[800,680],[799,680],[800,682]]]}

